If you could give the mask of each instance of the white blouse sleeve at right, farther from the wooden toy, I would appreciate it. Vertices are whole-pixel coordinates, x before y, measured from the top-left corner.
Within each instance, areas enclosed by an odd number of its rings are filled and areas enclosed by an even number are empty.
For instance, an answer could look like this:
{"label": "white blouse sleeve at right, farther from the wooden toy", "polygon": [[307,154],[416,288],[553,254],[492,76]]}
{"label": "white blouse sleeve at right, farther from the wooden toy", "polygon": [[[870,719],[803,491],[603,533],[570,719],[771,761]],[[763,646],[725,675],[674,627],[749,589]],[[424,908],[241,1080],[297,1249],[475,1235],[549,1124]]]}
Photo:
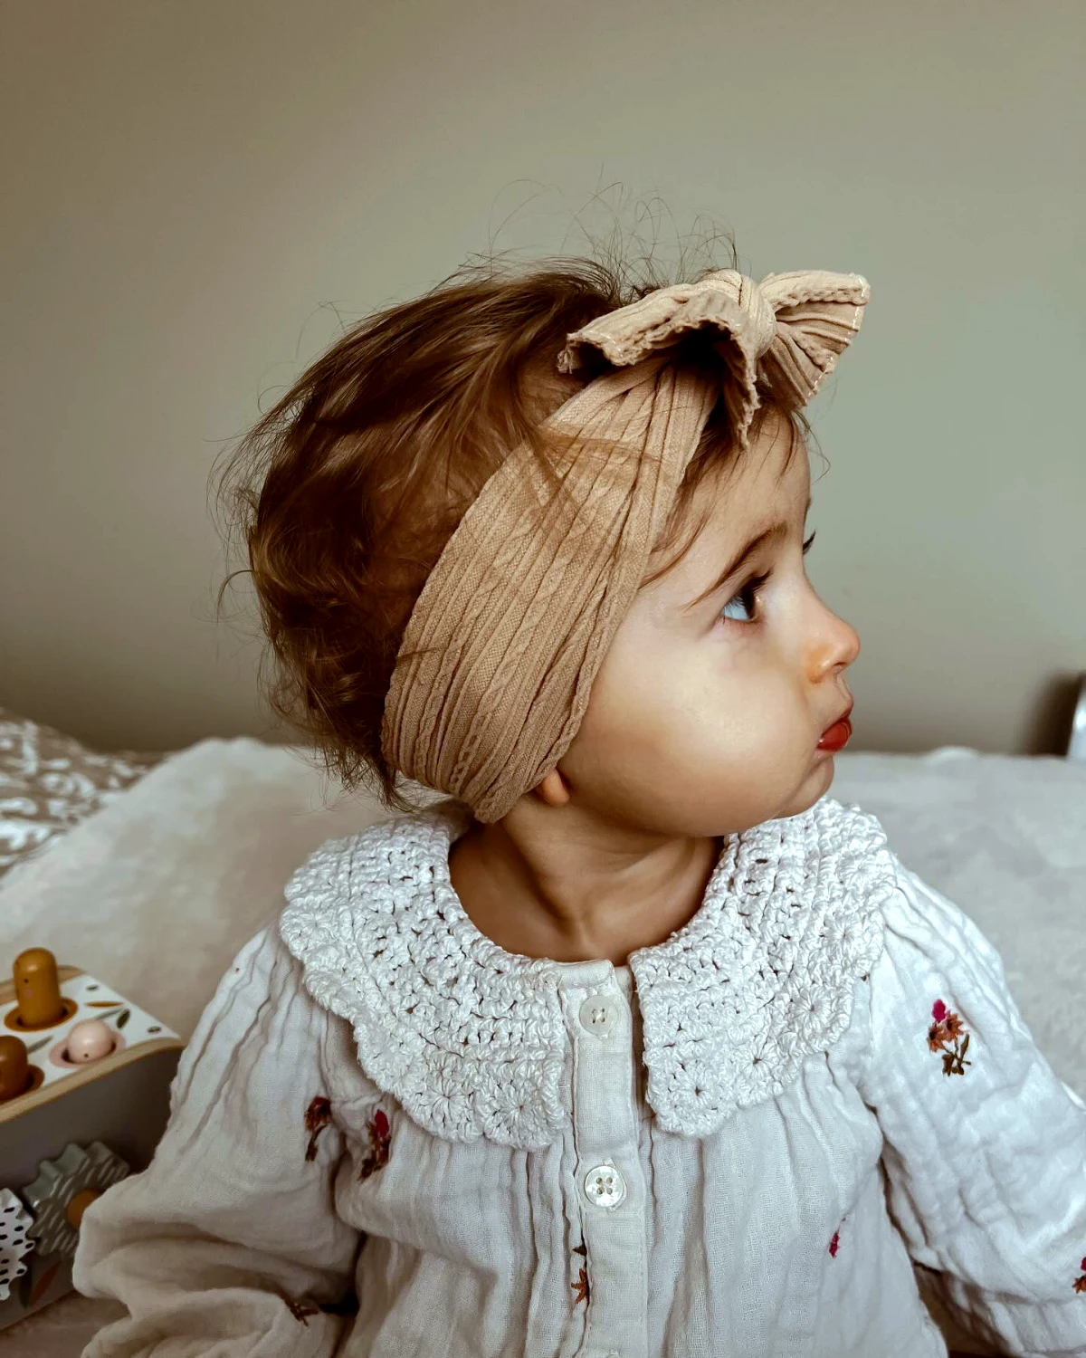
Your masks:
{"label": "white blouse sleeve at right, farther from the wooden toy", "polygon": [[990,1351],[1086,1355],[1086,1105],[1037,1051],[992,944],[897,872],[861,1086],[891,1214]]}

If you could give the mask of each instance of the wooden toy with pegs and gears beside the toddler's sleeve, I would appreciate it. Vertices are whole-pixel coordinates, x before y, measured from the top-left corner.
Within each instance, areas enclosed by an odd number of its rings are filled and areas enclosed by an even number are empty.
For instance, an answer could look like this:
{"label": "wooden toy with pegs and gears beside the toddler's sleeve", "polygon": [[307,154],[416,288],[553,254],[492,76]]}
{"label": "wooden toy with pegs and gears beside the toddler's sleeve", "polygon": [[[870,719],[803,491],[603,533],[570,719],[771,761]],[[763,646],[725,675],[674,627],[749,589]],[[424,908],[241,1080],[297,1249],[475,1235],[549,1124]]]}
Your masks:
{"label": "wooden toy with pegs and gears beside the toddler's sleeve", "polygon": [[144,1169],[185,1043],[45,948],[0,983],[0,1329],[72,1289],[87,1207]]}

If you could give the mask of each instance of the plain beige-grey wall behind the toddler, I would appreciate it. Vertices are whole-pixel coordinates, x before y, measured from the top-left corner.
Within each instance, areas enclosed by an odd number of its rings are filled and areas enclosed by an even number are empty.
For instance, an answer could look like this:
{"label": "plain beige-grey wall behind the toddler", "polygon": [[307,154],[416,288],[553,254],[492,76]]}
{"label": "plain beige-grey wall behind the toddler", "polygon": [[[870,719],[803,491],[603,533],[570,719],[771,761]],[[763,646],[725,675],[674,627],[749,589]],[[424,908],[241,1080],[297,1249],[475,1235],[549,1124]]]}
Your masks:
{"label": "plain beige-grey wall behind the toddler", "polygon": [[[810,570],[857,747],[1049,744],[1086,669],[1079,0],[23,0],[3,10],[0,703],[262,732],[206,478],[346,318],[490,243],[730,227],[858,270]],[[618,197],[616,197],[618,194]],[[505,225],[502,225],[512,215]],[[595,236],[614,219],[593,210]],[[652,235],[652,225],[642,225]],[[239,602],[243,596],[239,596]]]}

